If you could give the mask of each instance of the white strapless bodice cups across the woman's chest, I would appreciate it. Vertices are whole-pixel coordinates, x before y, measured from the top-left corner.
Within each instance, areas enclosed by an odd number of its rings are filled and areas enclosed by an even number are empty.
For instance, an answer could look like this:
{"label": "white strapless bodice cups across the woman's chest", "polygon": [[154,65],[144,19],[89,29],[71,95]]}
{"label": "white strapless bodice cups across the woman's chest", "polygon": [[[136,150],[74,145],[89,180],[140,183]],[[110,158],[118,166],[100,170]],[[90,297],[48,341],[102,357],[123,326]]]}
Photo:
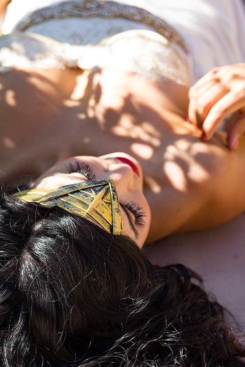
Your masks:
{"label": "white strapless bodice cups across the woman's chest", "polygon": [[0,37],[0,73],[20,69],[116,68],[151,80],[189,86],[184,58],[156,32],[130,30],[99,43],[72,45],[35,33]]}

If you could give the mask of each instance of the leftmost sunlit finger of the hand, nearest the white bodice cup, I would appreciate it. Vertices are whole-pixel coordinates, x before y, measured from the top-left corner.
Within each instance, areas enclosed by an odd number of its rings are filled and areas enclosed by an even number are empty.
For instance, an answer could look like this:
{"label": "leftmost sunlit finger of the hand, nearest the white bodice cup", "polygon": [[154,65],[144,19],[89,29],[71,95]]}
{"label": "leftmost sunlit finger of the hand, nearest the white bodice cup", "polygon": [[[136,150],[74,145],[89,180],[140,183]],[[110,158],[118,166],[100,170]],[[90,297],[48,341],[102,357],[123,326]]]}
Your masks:
{"label": "leftmost sunlit finger of the hand, nearest the white bodice cup", "polygon": [[189,119],[199,128],[202,127],[204,120],[214,104],[229,91],[224,85],[214,81],[212,82],[212,85],[209,83],[209,88],[202,88],[203,93],[197,99],[192,98],[189,102]]}

